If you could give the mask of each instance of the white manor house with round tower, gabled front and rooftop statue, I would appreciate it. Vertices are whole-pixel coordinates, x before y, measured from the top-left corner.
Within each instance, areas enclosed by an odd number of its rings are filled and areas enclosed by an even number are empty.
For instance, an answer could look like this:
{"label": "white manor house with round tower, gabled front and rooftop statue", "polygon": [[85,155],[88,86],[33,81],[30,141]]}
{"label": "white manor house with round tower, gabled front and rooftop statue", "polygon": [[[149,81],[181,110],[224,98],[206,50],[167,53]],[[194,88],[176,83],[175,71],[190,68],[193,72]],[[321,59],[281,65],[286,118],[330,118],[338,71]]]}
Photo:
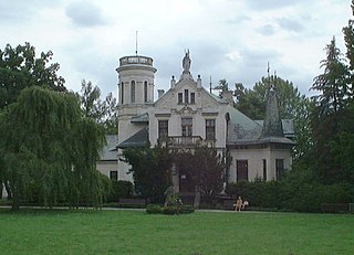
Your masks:
{"label": "white manor house with round tower, gabled front and rooftop statue", "polygon": [[[292,163],[294,142],[292,120],[279,117],[277,97],[270,87],[266,119],[252,120],[233,107],[232,92],[220,95],[208,92],[200,75],[190,73],[189,52],[183,59],[179,78],[171,77],[167,92],[158,91],[154,99],[155,73],[153,59],[140,55],[119,59],[118,73],[118,137],[108,137],[108,147],[123,150],[152,147],[160,142],[173,149],[206,145],[228,150],[232,157],[229,182],[240,180],[280,180]],[[111,144],[111,145],[110,145]],[[116,146],[117,145],[117,146]],[[97,169],[111,179],[133,181],[129,166],[106,151]],[[116,155],[115,155],[116,156]],[[174,169],[176,191],[189,191],[187,174]]]}

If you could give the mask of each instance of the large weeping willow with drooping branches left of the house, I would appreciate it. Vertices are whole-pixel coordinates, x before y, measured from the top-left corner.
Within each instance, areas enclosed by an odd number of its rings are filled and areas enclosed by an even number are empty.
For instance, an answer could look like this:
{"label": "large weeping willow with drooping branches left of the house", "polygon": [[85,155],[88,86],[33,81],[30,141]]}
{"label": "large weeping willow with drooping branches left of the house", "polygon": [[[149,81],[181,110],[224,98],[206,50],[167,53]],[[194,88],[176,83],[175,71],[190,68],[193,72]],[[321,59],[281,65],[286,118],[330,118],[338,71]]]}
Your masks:
{"label": "large weeping willow with drooping branches left of the house", "polygon": [[24,88],[0,115],[0,137],[13,209],[22,201],[101,204],[110,183],[96,170],[104,129],[84,117],[74,95]]}

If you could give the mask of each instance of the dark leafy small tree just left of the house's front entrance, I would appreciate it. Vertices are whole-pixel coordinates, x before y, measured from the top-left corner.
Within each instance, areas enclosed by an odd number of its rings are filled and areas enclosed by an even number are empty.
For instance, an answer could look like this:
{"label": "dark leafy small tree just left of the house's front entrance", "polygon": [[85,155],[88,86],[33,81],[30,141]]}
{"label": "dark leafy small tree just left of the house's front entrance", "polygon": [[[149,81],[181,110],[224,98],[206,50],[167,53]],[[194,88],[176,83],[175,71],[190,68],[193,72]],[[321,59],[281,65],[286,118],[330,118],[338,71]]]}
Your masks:
{"label": "dark leafy small tree just left of the house's front entrance", "polygon": [[163,203],[165,191],[171,185],[173,156],[167,148],[129,148],[123,151],[124,162],[129,163],[135,191],[150,202]]}

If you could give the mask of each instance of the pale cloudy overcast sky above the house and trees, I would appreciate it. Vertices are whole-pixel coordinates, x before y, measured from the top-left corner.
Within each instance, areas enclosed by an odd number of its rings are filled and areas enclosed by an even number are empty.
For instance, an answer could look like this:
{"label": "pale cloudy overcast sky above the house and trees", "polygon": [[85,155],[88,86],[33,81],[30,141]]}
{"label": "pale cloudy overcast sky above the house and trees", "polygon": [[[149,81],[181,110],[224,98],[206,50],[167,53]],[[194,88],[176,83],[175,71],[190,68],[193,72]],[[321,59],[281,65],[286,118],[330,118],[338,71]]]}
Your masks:
{"label": "pale cloudy overcast sky above the house and trees", "polygon": [[345,53],[342,28],[351,0],[0,0],[0,47],[30,42],[51,50],[66,87],[92,81],[116,95],[118,59],[154,59],[156,89],[179,77],[185,49],[191,73],[209,87],[226,78],[251,88],[271,72],[309,94],[332,36]]}

